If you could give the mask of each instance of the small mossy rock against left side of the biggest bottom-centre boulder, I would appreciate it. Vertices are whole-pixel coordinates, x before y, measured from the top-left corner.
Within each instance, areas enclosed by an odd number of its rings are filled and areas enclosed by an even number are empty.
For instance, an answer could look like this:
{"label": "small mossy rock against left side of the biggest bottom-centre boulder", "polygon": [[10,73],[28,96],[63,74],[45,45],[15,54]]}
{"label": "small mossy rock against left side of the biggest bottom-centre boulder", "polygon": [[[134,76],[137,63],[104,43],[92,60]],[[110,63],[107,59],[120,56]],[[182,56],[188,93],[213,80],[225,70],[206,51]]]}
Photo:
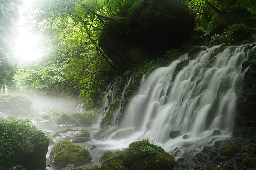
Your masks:
{"label": "small mossy rock against left side of the biggest bottom-centre boulder", "polygon": [[119,153],[105,160],[102,163],[100,170],[129,170],[125,165],[124,157]]}

